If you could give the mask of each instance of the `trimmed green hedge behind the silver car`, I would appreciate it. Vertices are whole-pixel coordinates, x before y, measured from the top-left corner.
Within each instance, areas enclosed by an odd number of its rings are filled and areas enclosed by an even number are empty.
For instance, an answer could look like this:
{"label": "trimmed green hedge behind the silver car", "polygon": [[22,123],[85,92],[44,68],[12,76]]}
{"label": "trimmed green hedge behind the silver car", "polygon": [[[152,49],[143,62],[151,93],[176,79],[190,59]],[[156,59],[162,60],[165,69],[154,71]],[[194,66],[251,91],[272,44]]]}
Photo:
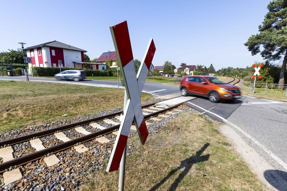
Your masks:
{"label": "trimmed green hedge behind the silver car", "polygon": [[[79,70],[79,68],[69,68],[62,67],[61,71],[64,70]],[[87,73],[87,76],[113,76],[111,70],[101,71],[101,70],[84,70]],[[32,67],[33,76],[54,76],[55,74],[60,73],[59,67]]]}

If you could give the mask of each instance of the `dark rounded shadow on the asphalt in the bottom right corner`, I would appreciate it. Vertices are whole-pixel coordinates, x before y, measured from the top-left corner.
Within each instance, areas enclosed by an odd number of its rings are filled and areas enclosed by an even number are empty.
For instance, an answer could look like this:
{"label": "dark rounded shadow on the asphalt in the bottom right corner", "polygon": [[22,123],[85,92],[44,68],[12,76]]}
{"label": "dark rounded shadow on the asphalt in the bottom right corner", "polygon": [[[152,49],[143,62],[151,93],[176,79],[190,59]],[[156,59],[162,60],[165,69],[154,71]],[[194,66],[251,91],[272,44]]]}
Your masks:
{"label": "dark rounded shadow on the asphalt in the bottom right corner", "polygon": [[287,190],[287,172],[267,170],[264,172],[264,177],[274,188],[280,191]]}

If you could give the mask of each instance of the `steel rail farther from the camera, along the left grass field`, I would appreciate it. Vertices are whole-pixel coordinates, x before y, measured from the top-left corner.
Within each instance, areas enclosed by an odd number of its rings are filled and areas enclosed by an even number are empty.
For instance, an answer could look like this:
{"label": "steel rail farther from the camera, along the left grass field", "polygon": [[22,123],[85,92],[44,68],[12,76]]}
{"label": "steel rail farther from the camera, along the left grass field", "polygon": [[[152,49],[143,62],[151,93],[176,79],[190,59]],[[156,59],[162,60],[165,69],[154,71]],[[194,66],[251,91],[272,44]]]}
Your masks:
{"label": "steel rail farther from the camera, along the left grass field", "polygon": [[[143,105],[142,108],[147,108],[147,107],[150,107],[150,106],[155,105],[155,104],[156,104],[156,102],[148,104],[148,105]],[[76,122],[76,123],[72,123],[72,124],[63,125],[63,126],[60,126],[60,127],[56,127],[56,128],[52,128],[52,129],[48,129],[48,130],[32,133],[32,134],[29,134],[29,135],[23,135],[23,136],[15,137],[15,138],[12,138],[12,139],[3,140],[3,141],[0,141],[0,147],[4,146],[4,145],[8,145],[8,144],[9,145],[15,145],[15,144],[18,144],[18,143],[21,143],[21,142],[26,142],[26,141],[29,141],[30,139],[32,139],[33,137],[48,136],[48,135],[54,134],[56,131],[69,130],[69,129],[72,129],[72,128],[76,127],[76,126],[87,125],[87,124],[90,124],[91,122],[97,122],[97,121],[104,120],[105,118],[112,118],[112,117],[114,117],[116,115],[120,115],[121,113],[123,113],[123,111],[119,111],[119,112],[116,112],[116,113],[113,113],[113,114],[108,114],[108,115],[104,115],[104,116],[100,116],[100,117],[95,117],[95,118],[88,119],[88,120],[85,120],[85,121],[80,121],[80,122]]]}

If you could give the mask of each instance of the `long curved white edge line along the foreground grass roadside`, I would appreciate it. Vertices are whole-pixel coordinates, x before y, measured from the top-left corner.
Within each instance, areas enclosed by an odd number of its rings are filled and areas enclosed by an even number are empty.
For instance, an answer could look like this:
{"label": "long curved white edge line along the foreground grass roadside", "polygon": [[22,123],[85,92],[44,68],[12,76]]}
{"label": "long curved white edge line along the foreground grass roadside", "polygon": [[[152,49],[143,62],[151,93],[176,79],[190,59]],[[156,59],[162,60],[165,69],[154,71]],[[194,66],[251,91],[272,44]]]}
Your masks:
{"label": "long curved white edge line along the foreground grass roadside", "polygon": [[[190,102],[187,102],[190,103]],[[207,111],[206,109],[195,105],[193,103],[190,103],[191,105],[194,105],[206,112],[209,112],[213,115],[215,115],[216,117],[219,117],[220,119],[222,119],[225,123],[232,125],[235,129],[239,130],[241,133],[243,133],[245,136],[247,136],[250,140],[252,140],[255,144],[257,144],[261,149],[263,149],[268,155],[270,155],[274,160],[276,160],[279,164],[281,164],[283,166],[283,168],[285,168],[287,170],[287,164],[285,162],[283,162],[279,157],[277,157],[273,152],[271,152],[269,149],[267,149],[265,146],[263,146],[260,142],[258,142],[256,139],[254,139],[252,136],[250,136],[248,133],[246,133],[244,130],[242,130],[240,127],[236,126],[235,124],[231,123],[230,121],[228,121],[227,119],[219,116],[218,114],[212,113],[211,111]]]}

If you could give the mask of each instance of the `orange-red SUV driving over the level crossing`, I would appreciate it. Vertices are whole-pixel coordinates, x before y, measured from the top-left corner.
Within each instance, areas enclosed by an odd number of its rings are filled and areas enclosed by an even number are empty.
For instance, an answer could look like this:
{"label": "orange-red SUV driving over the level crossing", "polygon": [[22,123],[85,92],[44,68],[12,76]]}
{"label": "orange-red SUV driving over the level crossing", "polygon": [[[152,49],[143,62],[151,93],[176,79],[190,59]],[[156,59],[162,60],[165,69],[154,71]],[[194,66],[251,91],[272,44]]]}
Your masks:
{"label": "orange-red SUV driving over the level crossing", "polygon": [[187,76],[180,81],[182,96],[189,93],[208,97],[211,102],[217,103],[221,99],[233,100],[240,98],[241,92],[237,86],[223,83],[213,76]]}

